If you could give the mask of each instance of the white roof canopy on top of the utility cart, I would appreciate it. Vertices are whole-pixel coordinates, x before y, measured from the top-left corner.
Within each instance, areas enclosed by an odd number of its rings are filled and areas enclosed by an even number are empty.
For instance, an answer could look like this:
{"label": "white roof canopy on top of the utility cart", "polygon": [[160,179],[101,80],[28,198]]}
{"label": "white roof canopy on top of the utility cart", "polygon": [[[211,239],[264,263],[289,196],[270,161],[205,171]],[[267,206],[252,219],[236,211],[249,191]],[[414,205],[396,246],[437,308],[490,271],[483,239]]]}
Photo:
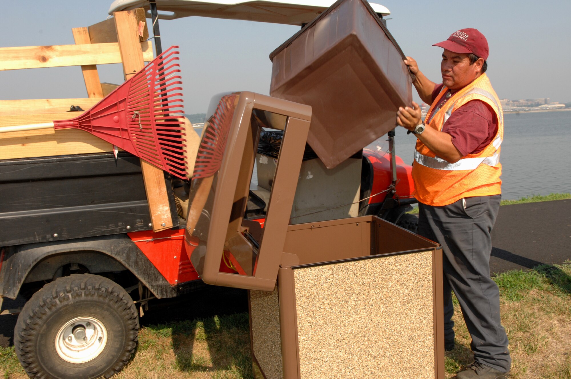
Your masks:
{"label": "white roof canopy on top of the utility cart", "polygon": [[[302,25],[316,18],[331,6],[334,0],[156,0],[160,19],[175,19],[189,16],[227,18]],[[384,6],[370,3],[373,10],[387,16],[391,12]],[[109,14],[116,11],[144,8],[150,18],[148,0],[115,0]],[[167,13],[165,13],[167,12]]]}

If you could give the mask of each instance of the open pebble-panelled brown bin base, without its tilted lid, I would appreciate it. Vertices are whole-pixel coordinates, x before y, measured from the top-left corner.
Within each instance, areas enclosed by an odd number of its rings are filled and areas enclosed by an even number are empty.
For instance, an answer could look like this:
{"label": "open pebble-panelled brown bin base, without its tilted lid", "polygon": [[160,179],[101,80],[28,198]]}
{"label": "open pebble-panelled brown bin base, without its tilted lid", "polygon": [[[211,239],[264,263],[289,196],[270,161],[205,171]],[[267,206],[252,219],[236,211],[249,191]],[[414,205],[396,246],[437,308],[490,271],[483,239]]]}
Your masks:
{"label": "open pebble-panelled brown bin base, without its tilted lid", "polygon": [[438,244],[364,216],[290,225],[284,252],[249,296],[260,377],[444,378]]}

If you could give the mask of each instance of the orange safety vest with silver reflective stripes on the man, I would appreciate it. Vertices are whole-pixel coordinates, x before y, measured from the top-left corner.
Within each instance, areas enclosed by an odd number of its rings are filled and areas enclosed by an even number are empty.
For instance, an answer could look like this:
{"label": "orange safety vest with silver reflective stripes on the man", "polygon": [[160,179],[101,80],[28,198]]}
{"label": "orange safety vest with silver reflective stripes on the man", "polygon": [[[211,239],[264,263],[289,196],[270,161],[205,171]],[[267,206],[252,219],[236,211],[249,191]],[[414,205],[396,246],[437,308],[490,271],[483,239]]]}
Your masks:
{"label": "orange safety vest with silver reflective stripes on the man", "polygon": [[412,179],[415,197],[427,205],[448,205],[463,197],[489,196],[501,193],[500,144],[504,138],[504,116],[496,92],[486,74],[456,92],[431,119],[436,104],[448,91],[443,87],[428,110],[424,120],[426,127],[441,131],[452,112],[471,100],[482,100],[496,112],[498,130],[492,141],[478,154],[468,154],[456,163],[439,158],[420,140],[416,141]]}

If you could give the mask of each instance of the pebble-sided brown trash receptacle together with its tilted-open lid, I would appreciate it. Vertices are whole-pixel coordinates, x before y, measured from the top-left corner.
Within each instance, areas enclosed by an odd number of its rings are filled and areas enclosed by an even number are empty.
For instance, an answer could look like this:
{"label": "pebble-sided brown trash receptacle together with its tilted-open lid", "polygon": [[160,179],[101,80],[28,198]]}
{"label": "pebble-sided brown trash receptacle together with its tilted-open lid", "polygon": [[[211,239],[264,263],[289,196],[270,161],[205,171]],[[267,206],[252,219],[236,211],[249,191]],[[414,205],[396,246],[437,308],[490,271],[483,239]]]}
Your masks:
{"label": "pebble-sided brown trash receptacle together with its tilted-open lid", "polygon": [[[252,290],[260,375],[443,379],[439,245],[376,216],[288,225],[311,108],[252,92],[215,104],[184,240],[205,283]],[[244,212],[267,124],[285,131],[262,228]]]}

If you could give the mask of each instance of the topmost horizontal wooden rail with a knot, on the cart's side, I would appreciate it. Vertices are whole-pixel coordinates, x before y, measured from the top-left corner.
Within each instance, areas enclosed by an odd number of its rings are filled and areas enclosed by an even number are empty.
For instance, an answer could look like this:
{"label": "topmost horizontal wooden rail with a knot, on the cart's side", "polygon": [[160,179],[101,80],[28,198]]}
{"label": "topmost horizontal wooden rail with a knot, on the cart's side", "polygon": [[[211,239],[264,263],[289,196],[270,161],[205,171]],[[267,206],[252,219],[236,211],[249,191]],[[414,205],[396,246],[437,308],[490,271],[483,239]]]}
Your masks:
{"label": "topmost horizontal wooden rail with a knot, on the cart's side", "polygon": [[[144,61],[152,61],[150,41],[139,43],[139,49],[142,51]],[[118,43],[0,47],[0,71],[121,62]]]}

